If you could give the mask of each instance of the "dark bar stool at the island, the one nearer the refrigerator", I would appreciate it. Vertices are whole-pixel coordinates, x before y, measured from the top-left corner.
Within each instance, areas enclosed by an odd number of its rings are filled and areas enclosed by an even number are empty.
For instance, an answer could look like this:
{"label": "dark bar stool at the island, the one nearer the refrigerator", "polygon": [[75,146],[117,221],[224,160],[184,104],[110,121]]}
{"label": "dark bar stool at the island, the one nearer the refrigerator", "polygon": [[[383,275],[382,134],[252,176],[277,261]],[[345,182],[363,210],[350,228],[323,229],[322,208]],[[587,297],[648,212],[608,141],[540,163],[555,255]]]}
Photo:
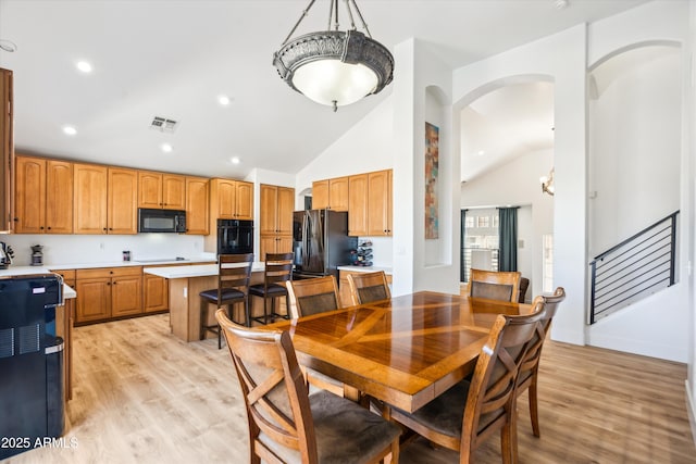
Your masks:
{"label": "dark bar stool at the island, the one nearer the refrigerator", "polygon": [[[249,294],[263,298],[263,316],[253,317],[263,324],[275,321],[276,317],[287,318],[290,311],[290,299],[286,287],[286,281],[293,278],[294,253],[266,253],[265,269],[263,271],[263,284],[256,284],[249,287]],[[276,313],[275,300],[285,297],[286,315]],[[271,312],[269,313],[269,300],[271,300]],[[263,321],[261,321],[263,318]]]}

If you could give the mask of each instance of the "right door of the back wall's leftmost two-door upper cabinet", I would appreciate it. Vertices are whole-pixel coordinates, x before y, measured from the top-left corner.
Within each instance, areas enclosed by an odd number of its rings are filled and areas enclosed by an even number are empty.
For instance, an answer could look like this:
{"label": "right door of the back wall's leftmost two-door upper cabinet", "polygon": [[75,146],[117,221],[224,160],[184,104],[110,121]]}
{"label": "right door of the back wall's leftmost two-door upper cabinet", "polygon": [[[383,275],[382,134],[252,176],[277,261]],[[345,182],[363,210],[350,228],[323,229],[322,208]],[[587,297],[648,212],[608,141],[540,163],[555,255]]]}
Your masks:
{"label": "right door of the back wall's leftmost two-door upper cabinet", "polygon": [[73,233],[73,163],[46,162],[46,231]]}

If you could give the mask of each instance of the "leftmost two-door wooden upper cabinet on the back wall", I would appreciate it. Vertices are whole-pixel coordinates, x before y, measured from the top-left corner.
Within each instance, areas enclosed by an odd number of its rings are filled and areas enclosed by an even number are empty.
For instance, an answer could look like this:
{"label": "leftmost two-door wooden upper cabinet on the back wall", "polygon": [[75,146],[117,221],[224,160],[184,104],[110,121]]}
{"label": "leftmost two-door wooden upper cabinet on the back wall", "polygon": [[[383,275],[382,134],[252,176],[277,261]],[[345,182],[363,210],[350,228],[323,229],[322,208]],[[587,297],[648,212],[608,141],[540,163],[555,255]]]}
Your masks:
{"label": "leftmost two-door wooden upper cabinet on the back wall", "polygon": [[15,158],[16,234],[73,233],[73,164],[17,154]]}

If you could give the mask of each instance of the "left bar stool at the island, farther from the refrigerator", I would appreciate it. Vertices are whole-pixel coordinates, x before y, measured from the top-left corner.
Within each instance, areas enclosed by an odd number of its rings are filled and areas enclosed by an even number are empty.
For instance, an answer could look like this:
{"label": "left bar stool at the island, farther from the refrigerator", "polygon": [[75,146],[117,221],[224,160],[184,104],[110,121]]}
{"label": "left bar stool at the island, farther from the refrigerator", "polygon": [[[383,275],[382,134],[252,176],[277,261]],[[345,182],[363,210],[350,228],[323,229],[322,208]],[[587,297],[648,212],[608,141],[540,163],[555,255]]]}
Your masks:
{"label": "left bar stool at the island, farther from the refrigerator", "polygon": [[233,308],[236,303],[244,303],[245,323],[251,324],[249,313],[249,279],[253,253],[246,254],[220,254],[217,256],[217,288],[204,290],[199,293],[200,302],[200,339],[206,338],[207,331],[217,335],[217,349],[222,348],[222,335],[220,326],[209,324],[208,306],[212,303],[217,306],[227,306],[229,318],[234,319]]}

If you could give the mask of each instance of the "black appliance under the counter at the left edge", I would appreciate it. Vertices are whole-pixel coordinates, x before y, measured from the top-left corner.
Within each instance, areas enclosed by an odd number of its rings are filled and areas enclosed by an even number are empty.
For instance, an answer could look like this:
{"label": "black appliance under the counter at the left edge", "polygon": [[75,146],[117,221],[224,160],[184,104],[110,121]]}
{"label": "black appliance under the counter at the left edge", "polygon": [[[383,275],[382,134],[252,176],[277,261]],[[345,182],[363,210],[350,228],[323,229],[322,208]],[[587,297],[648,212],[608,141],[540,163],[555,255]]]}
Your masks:
{"label": "black appliance under the counter at the left edge", "polygon": [[0,460],[63,434],[62,290],[54,274],[0,278]]}

